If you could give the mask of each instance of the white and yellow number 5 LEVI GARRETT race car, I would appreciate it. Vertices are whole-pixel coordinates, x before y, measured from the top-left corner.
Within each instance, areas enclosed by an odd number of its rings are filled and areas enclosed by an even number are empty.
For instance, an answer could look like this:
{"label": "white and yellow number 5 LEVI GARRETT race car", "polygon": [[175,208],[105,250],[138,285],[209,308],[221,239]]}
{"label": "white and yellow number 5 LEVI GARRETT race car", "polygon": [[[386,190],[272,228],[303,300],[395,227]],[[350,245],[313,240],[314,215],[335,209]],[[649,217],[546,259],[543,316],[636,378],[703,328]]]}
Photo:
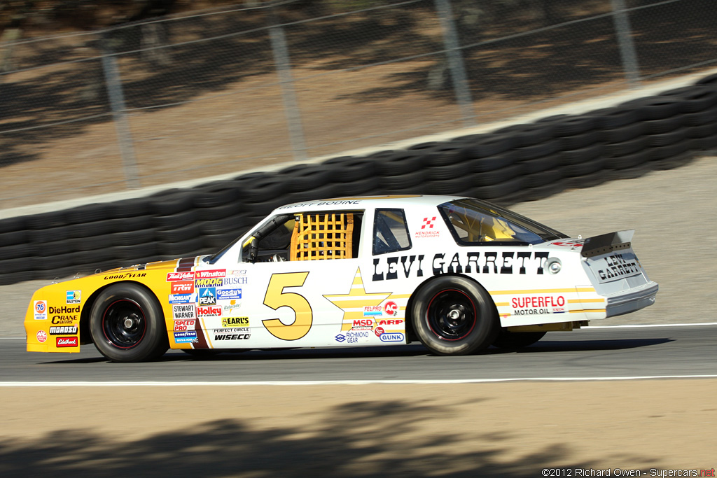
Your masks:
{"label": "white and yellow number 5 LEVI GARRETT race car", "polygon": [[655,301],[632,234],[571,239],[465,197],[289,204],[217,254],[43,287],[27,348],[95,343],[116,361],[414,340],[441,355],[520,348]]}

